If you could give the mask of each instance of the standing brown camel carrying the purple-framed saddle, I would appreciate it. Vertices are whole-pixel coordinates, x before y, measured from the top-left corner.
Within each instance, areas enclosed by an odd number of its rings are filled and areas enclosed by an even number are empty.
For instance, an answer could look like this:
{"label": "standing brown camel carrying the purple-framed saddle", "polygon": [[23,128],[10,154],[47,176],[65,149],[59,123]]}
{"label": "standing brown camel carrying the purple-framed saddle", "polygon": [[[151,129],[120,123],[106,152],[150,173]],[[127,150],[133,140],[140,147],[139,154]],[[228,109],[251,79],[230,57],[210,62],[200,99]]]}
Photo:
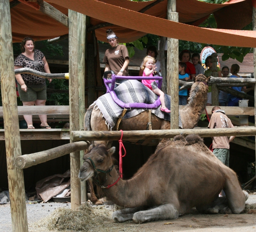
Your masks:
{"label": "standing brown camel carrying the purple-framed saddle", "polygon": [[[207,92],[208,92],[208,81],[210,77],[206,77],[202,74],[197,75],[195,78],[195,83],[193,83],[189,102],[184,107],[184,109],[180,110],[180,118],[182,122],[183,129],[192,129],[199,121],[200,115],[202,114],[207,101]],[[123,85],[123,84],[122,84]],[[107,86],[108,87],[108,86]],[[149,90],[150,91],[150,90]],[[104,95],[103,95],[104,96]],[[121,130],[146,130],[148,125],[148,111],[143,111],[142,113],[136,115],[135,117],[123,119],[120,122],[119,129]],[[170,129],[170,121],[166,121],[162,118],[155,116],[153,113],[151,114],[151,123],[152,130],[162,130],[162,129]],[[116,126],[113,130],[116,129]],[[101,110],[96,107],[96,105],[90,106],[86,114],[84,116],[84,130],[99,130],[99,131],[108,131],[109,127],[106,123],[105,118],[102,115]],[[163,140],[164,142],[166,140]],[[130,141],[131,142],[131,141]],[[138,142],[138,141],[133,141]],[[145,140],[142,142],[142,145],[157,145],[159,140]],[[112,141],[95,141],[95,145],[105,144],[111,147]],[[163,144],[163,143],[162,143]],[[88,185],[91,193],[91,201],[93,204],[99,205],[103,204],[103,202],[99,201],[95,196],[93,190],[93,183],[91,180],[88,180]]]}

